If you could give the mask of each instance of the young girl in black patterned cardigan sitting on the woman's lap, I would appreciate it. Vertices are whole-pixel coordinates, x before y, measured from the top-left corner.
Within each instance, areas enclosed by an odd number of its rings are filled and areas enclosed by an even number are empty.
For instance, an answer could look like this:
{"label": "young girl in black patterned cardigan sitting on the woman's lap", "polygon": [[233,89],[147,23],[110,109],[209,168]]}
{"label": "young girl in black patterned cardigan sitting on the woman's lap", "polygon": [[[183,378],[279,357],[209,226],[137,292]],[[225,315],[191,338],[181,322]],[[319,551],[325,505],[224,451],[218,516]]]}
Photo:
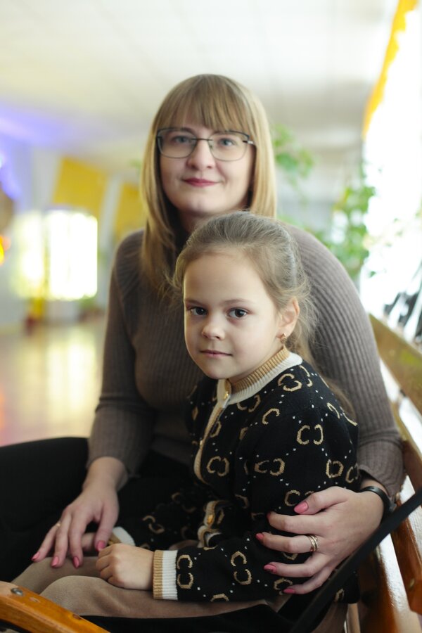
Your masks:
{"label": "young girl in black patterned cardigan sitting on the woman's lap", "polygon": [[[187,407],[191,486],[148,516],[122,521],[95,563],[54,570],[43,561],[16,582],[41,591],[77,574],[43,595],[82,615],[148,618],[143,631],[147,623],[161,630],[158,614],[167,630],[165,618],[175,614],[212,619],[224,611],[224,630],[237,630],[245,608],[257,606],[261,622],[287,630],[312,594],[292,596],[298,579],[271,575],[262,540],[276,530],[267,515],[293,515],[309,494],[332,485],[358,490],[357,425],[308,362],[314,309],[281,223],[249,212],[210,219],[179,255],[174,284],[183,289],[188,352],[206,376]],[[309,554],[318,551],[317,537],[303,539]],[[273,554],[279,563],[309,556]],[[80,577],[87,573],[108,585]],[[139,589],[153,590],[158,610]],[[341,630],[343,616],[341,609],[330,631]],[[243,630],[256,630],[248,621]],[[326,618],[318,630],[324,626]]]}

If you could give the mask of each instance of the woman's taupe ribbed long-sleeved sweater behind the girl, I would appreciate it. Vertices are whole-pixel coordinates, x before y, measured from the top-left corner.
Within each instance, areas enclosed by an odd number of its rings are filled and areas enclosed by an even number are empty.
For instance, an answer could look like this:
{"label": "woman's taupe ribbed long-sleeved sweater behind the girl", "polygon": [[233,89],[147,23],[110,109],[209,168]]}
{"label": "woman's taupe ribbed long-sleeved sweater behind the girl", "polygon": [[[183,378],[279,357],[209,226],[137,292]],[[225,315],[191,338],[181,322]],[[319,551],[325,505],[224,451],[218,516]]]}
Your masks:
{"label": "woman's taupe ribbed long-sleeved sweater behind the girl", "polygon": [[[402,481],[399,436],[371,325],[343,267],[313,236],[290,227],[319,313],[319,369],[350,398],[359,421],[359,467],[387,487]],[[182,407],[200,378],[184,345],[183,309],[160,302],[141,276],[142,231],[117,250],[110,282],[103,386],[90,457],[113,456],[134,473],[148,449],[188,463]]]}

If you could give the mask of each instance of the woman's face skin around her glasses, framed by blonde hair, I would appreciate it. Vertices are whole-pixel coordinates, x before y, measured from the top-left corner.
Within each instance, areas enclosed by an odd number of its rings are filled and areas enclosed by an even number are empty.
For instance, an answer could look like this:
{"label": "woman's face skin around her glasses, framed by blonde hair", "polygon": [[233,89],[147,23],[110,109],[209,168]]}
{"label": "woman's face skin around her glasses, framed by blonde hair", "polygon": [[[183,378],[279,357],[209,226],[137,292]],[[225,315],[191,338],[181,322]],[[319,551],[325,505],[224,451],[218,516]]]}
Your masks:
{"label": "woman's face skin around her glasses, framed by blonde hair", "polygon": [[[218,131],[189,123],[184,129],[200,139]],[[162,187],[184,229],[191,232],[204,219],[245,207],[254,158],[255,148],[247,145],[240,160],[217,160],[206,141],[199,141],[187,158],[160,155]]]}

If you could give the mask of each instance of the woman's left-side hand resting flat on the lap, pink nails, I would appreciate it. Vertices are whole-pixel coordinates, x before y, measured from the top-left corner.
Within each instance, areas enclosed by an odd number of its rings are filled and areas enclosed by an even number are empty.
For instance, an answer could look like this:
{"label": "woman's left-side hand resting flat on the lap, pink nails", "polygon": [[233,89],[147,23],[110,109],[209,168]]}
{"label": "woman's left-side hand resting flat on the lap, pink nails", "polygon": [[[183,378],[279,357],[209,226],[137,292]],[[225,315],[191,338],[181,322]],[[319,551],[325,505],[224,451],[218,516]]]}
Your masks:
{"label": "woman's left-side hand resting flat on the lap, pink nails", "polygon": [[[75,567],[83,562],[83,551],[106,546],[119,513],[117,488],[126,478],[124,465],[113,457],[101,457],[91,464],[83,490],[68,505],[60,520],[47,532],[32,561],[42,561],[53,552],[52,567],[61,567],[66,556]],[[85,535],[87,525],[94,521],[98,529],[94,536]]]}

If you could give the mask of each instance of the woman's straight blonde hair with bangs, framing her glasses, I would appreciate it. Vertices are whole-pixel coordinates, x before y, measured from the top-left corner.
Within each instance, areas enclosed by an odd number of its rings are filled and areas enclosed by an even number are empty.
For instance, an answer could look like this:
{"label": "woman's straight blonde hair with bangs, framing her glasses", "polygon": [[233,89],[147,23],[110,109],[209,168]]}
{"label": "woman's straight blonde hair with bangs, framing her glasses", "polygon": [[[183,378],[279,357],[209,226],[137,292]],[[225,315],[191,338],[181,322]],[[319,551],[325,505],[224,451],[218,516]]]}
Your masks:
{"label": "woman's straight blonde hair with bangs, framing her glasses", "polygon": [[197,75],[177,84],[155,115],[141,169],[141,202],[147,217],[143,271],[153,288],[164,294],[179,250],[177,234],[181,226],[177,210],[162,188],[156,135],[162,127],[183,127],[186,122],[250,135],[255,143],[255,163],[248,209],[267,217],[276,215],[274,154],[267,115],[259,99],[222,75]]}

